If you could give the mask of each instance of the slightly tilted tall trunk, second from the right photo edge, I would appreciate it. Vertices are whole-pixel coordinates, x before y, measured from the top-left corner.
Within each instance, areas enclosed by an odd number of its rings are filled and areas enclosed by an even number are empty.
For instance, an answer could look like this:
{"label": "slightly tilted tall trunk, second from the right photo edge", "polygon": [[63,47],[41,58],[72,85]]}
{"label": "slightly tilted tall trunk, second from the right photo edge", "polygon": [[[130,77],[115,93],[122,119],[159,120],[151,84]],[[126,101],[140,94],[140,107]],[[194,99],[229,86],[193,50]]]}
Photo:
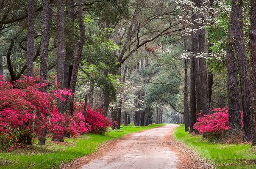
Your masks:
{"label": "slightly tilted tall trunk, second from the right photo edge", "polygon": [[242,91],[242,106],[244,114],[244,141],[251,140],[251,114],[250,114],[250,77],[248,71],[248,60],[245,51],[245,42],[243,35],[243,18],[242,18],[243,0],[233,0],[232,9],[233,25],[234,25],[234,39],[235,52],[237,56],[238,72]]}

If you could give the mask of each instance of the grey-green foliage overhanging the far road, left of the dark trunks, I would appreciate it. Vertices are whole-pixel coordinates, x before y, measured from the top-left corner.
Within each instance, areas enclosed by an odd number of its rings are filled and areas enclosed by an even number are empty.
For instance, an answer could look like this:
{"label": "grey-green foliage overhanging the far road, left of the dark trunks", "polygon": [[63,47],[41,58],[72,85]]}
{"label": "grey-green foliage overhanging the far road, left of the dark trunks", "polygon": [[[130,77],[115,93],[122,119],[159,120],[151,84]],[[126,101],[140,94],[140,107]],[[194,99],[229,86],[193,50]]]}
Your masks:
{"label": "grey-green foliage overhanging the far road, left of the dark trunks", "polygon": [[180,75],[180,71],[183,71],[182,61],[175,58],[178,52],[179,50],[174,50],[162,55],[145,70],[145,74],[154,74],[146,87],[145,102],[147,105],[154,102],[173,106],[178,104],[179,86],[183,81]]}

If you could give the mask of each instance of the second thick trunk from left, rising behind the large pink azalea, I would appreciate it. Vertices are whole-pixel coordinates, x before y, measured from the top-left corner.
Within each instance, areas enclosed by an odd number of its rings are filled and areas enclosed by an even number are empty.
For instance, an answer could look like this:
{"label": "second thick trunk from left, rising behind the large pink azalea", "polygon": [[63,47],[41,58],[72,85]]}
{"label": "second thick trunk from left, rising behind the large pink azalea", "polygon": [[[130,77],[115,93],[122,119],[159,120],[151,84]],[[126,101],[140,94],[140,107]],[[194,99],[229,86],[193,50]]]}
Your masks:
{"label": "second thick trunk from left, rising behind the large pink azalea", "polygon": [[[40,76],[41,79],[48,79],[48,50],[49,50],[49,41],[50,41],[50,21],[52,14],[52,3],[48,3],[48,0],[43,1],[43,19],[42,19],[42,39],[41,39],[41,65],[40,65]],[[47,92],[47,86],[42,87],[42,92]],[[43,128],[42,134],[39,137],[39,144],[45,144],[46,137],[46,128]]]}

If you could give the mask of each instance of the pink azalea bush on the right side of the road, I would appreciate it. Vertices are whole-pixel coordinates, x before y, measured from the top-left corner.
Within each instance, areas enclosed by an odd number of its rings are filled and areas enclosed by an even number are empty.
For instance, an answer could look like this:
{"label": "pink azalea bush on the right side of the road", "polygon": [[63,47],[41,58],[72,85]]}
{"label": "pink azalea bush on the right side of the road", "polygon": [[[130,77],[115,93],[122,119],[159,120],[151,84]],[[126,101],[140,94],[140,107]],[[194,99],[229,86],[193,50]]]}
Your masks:
{"label": "pink azalea bush on the right side of the road", "polygon": [[[203,117],[198,117],[197,122],[194,124],[194,128],[200,133],[215,133],[219,134],[228,130],[228,107],[215,108],[211,110],[213,114],[206,114]],[[242,112],[241,117],[243,117]],[[198,113],[200,115],[202,113]],[[241,121],[243,125],[243,121]]]}

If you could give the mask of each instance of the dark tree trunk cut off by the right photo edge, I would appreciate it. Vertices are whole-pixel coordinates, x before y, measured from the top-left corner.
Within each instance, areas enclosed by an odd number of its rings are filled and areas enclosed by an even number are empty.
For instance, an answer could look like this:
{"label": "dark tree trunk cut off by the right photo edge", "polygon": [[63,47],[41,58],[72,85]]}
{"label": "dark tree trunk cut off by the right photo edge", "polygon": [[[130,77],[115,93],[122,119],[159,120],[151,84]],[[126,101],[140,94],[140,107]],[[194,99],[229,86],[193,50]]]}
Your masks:
{"label": "dark tree trunk cut off by the right photo edge", "polygon": [[256,1],[251,0],[250,8],[250,58],[251,58],[251,113],[252,113],[252,145],[256,145]]}

